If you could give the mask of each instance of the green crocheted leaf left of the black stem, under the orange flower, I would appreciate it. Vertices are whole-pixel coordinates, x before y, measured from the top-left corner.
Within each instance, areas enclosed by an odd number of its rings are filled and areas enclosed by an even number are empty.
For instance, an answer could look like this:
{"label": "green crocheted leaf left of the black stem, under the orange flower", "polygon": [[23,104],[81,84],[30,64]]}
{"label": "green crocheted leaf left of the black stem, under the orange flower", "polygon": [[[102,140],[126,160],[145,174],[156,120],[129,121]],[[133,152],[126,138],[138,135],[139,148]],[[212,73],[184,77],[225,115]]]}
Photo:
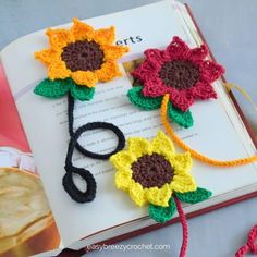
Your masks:
{"label": "green crocheted leaf left of the black stem, under the orange flower", "polygon": [[66,95],[70,88],[70,78],[54,81],[46,78],[35,87],[34,93],[48,98],[60,98]]}

